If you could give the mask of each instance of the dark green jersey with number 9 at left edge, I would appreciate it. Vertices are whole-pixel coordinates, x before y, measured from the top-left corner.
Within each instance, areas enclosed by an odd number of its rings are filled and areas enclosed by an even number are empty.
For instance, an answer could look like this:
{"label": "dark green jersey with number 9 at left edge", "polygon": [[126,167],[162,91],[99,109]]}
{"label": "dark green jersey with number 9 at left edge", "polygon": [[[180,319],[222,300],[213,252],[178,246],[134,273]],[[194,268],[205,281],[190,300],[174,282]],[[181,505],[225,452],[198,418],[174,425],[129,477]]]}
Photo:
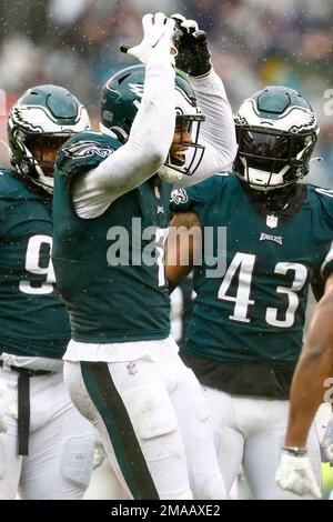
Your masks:
{"label": "dark green jersey with number 9 at left edge", "polygon": [[0,223],[0,349],[61,359],[70,324],[50,260],[50,198],[1,170]]}

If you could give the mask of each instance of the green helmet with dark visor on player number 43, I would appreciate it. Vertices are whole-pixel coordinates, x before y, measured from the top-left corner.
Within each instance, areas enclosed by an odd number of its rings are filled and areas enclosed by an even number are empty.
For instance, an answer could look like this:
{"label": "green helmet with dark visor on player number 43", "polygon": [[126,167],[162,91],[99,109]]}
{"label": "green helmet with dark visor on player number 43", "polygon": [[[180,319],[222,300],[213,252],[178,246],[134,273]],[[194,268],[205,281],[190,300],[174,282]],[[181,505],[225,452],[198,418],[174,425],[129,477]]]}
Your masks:
{"label": "green helmet with dark visor on player number 43", "polygon": [[255,92],[235,116],[236,174],[252,189],[280,189],[309,172],[319,127],[310,103],[287,87]]}

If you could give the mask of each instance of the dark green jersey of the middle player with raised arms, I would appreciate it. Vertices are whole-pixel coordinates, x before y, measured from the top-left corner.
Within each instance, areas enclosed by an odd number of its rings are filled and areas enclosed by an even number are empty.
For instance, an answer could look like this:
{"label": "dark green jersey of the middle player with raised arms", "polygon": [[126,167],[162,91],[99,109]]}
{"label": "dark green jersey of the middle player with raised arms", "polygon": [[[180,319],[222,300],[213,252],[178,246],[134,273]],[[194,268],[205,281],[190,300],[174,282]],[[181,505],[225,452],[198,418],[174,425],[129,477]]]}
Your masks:
{"label": "dark green jersey of the middle player with raised arms", "polygon": [[57,159],[52,259],[75,341],[144,341],[170,332],[163,242],[171,185],[150,180],[94,219],[81,219],[73,209],[73,179],[119,147],[90,131],[69,140]]}

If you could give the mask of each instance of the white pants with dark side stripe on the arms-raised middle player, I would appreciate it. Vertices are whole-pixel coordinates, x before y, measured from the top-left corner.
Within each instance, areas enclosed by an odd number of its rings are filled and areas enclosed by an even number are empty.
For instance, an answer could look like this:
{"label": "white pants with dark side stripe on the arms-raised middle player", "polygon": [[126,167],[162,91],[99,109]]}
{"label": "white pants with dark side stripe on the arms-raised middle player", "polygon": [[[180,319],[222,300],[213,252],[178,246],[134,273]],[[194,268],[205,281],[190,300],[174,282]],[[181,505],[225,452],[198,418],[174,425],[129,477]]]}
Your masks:
{"label": "white pants with dark side stripe on the arms-raised middle player", "polygon": [[134,362],[65,361],[72,401],[98,429],[129,498],[223,499],[199,382],[173,349],[163,360],[158,352],[159,341]]}

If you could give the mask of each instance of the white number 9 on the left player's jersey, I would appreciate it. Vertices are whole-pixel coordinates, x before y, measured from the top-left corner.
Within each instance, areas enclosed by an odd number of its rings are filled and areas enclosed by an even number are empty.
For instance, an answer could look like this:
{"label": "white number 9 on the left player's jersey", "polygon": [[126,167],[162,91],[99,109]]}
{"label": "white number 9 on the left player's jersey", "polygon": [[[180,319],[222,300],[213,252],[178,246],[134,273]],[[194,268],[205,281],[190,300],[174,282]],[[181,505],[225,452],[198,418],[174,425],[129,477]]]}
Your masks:
{"label": "white number 9 on the left player's jersey", "polygon": [[50,235],[33,235],[28,241],[26,254],[26,270],[27,272],[44,275],[44,281],[20,281],[19,288],[23,293],[46,294],[52,293],[54,290],[56,275],[51,258],[49,257],[48,263],[41,265],[41,250],[52,249],[52,238]]}

